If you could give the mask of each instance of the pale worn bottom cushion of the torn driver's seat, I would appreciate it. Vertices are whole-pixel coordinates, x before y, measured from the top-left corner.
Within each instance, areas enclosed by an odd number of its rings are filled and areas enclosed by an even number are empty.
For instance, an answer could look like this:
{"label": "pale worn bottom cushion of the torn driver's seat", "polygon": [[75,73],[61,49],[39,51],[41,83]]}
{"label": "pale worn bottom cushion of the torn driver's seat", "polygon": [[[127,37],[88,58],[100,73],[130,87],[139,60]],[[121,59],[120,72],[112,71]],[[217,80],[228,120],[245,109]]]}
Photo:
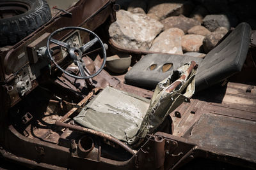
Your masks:
{"label": "pale worn bottom cushion of the torn driver's seat", "polygon": [[143,97],[106,87],[74,120],[84,127],[127,141],[140,129],[149,102]]}

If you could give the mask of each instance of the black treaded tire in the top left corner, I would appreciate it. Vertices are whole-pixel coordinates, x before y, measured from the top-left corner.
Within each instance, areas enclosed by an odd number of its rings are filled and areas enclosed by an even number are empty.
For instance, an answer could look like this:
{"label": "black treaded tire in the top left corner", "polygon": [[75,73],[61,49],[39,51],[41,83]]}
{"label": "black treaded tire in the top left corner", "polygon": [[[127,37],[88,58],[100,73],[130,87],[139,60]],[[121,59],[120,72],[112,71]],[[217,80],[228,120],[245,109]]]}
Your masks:
{"label": "black treaded tire in the top left corner", "polygon": [[14,45],[51,19],[45,0],[0,0],[0,11],[0,46]]}

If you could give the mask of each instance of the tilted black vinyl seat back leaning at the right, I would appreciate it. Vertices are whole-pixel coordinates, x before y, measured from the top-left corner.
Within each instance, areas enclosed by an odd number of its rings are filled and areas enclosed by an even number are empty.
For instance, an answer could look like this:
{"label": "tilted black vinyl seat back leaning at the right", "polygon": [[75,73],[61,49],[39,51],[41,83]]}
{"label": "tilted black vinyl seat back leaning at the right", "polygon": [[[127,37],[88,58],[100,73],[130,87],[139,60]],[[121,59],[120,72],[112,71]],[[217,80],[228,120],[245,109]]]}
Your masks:
{"label": "tilted black vinyl seat back leaning at the right", "polygon": [[219,83],[241,71],[250,45],[251,28],[241,23],[220,45],[207,53],[198,67],[196,91]]}

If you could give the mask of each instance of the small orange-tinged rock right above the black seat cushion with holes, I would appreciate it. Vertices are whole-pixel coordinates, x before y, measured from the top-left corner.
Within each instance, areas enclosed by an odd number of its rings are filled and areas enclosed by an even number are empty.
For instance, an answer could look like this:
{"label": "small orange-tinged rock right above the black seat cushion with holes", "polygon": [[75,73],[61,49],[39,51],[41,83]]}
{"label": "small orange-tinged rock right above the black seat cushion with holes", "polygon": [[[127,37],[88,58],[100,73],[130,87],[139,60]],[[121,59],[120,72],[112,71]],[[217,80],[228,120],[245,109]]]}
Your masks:
{"label": "small orange-tinged rock right above the black seat cushion with holes", "polygon": [[188,34],[182,36],[181,46],[185,52],[200,52],[202,51],[204,36],[196,34]]}

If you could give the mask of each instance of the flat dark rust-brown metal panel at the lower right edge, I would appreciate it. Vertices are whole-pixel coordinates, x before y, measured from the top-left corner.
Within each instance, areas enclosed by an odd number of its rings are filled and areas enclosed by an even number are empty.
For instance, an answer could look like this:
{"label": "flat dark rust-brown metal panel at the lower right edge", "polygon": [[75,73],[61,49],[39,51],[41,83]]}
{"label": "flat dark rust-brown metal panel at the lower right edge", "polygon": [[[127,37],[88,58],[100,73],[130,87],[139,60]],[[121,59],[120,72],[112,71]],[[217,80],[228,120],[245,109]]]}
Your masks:
{"label": "flat dark rust-brown metal panel at the lower right edge", "polygon": [[252,120],[208,113],[200,117],[184,138],[205,150],[256,162],[255,127]]}

